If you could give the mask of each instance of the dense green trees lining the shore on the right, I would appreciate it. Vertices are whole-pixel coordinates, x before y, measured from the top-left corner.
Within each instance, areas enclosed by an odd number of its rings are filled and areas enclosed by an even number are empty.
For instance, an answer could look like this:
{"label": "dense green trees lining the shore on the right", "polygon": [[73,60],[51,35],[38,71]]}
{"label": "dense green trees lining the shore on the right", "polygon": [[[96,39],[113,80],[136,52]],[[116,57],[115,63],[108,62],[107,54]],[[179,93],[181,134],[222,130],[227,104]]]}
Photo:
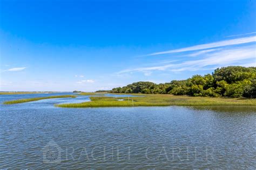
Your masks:
{"label": "dense green trees lining the shore on the right", "polygon": [[170,83],[136,82],[113,88],[110,93],[173,94],[189,96],[256,97],[256,67],[229,66],[212,74],[193,75]]}

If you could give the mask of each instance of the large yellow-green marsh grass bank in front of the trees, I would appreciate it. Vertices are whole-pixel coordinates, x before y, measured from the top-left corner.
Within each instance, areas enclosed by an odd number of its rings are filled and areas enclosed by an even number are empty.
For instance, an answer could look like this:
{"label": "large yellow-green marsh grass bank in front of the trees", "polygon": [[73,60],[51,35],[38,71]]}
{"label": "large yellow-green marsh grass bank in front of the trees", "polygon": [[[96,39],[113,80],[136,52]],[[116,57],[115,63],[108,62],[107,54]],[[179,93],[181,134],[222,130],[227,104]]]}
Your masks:
{"label": "large yellow-green marsh grass bank in front of the trees", "polygon": [[[144,97],[90,97],[91,102],[56,104],[63,108],[140,107],[168,105],[256,105],[256,100],[224,97],[190,97],[174,95],[145,95]],[[133,102],[132,102],[133,100]]]}

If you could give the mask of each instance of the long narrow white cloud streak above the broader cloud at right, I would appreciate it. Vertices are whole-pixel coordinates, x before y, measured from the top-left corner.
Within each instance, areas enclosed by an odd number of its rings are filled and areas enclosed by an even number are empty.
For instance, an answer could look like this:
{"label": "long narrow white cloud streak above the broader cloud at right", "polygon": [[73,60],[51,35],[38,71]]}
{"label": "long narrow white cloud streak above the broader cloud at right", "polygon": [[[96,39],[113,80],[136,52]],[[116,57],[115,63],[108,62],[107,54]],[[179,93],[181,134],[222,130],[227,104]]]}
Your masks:
{"label": "long narrow white cloud streak above the broader cloud at right", "polygon": [[256,36],[252,36],[252,37],[212,42],[210,44],[202,44],[202,45],[196,45],[196,46],[191,46],[191,47],[186,47],[186,48],[172,49],[169,51],[151,53],[151,54],[147,54],[147,55],[159,55],[159,54],[186,52],[186,51],[196,51],[199,49],[215,48],[215,47],[222,47],[222,46],[229,46],[229,45],[238,45],[238,44],[245,44],[248,42],[255,42],[255,41],[256,41]]}

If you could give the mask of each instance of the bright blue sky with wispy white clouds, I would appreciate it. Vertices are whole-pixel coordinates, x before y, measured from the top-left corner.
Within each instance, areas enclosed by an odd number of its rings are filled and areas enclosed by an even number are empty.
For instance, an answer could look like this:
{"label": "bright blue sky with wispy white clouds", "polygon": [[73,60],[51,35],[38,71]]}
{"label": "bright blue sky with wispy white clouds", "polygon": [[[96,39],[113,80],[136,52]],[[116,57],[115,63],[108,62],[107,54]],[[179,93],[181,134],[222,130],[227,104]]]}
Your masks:
{"label": "bright blue sky with wispy white clouds", "polygon": [[95,91],[256,66],[256,1],[0,0],[0,91]]}

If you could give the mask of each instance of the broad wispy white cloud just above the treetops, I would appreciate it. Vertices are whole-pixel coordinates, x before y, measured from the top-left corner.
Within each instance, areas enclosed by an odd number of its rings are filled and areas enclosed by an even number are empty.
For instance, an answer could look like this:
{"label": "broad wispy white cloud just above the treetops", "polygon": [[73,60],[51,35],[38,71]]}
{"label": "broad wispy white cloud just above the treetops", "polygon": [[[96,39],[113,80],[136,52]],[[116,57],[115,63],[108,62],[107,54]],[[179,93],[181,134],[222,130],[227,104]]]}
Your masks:
{"label": "broad wispy white cloud just above the treetops", "polygon": [[[248,65],[248,59],[256,58],[255,45],[250,45],[246,47],[236,47],[232,49],[223,49],[220,51],[215,51],[213,53],[208,53],[204,55],[203,59],[198,60],[188,60],[181,63],[160,65],[154,67],[140,67],[134,69],[124,69],[118,72],[121,73],[133,73],[133,72],[152,72],[155,70],[170,70],[172,72],[181,72],[184,70],[206,70],[214,69],[226,65]],[[245,63],[247,62],[247,63]],[[254,61],[255,62],[255,61]],[[210,67],[210,68],[209,68]]]}

